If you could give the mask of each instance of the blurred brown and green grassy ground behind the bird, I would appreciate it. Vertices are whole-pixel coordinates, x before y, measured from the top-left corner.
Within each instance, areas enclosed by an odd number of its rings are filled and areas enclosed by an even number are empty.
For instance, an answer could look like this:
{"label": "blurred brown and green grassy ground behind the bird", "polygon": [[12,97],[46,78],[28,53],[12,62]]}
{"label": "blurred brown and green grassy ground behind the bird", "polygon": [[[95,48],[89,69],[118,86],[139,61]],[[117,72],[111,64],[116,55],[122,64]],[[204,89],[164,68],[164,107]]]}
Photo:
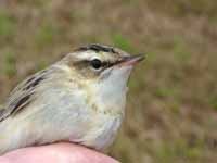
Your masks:
{"label": "blurred brown and green grassy ground behind the bird", "polygon": [[110,155],[216,162],[216,0],[0,0],[0,103],[24,77],[90,42],[148,54]]}

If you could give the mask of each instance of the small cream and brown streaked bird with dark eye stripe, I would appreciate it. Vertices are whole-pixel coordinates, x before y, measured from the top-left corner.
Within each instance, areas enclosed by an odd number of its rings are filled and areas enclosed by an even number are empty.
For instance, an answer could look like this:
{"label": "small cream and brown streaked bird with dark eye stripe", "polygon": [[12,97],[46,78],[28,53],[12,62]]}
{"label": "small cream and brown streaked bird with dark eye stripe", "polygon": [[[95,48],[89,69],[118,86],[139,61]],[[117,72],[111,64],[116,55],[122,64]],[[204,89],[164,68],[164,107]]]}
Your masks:
{"label": "small cream and brown streaked bird with dark eye stripe", "polygon": [[127,84],[143,59],[91,43],[24,79],[0,109],[0,155],[60,141],[103,152],[120,128]]}

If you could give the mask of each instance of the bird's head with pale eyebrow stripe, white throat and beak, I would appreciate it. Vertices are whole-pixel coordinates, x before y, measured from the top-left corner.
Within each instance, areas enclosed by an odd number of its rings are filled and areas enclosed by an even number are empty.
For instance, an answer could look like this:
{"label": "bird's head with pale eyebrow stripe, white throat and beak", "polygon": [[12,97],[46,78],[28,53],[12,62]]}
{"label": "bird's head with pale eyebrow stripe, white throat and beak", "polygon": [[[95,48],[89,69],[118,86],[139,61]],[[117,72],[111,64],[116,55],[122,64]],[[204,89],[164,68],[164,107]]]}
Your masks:
{"label": "bird's head with pale eyebrow stripe, white throat and beak", "polygon": [[77,82],[90,90],[99,101],[118,103],[125,99],[132,67],[144,57],[130,55],[120,49],[89,45],[67,54],[67,63]]}

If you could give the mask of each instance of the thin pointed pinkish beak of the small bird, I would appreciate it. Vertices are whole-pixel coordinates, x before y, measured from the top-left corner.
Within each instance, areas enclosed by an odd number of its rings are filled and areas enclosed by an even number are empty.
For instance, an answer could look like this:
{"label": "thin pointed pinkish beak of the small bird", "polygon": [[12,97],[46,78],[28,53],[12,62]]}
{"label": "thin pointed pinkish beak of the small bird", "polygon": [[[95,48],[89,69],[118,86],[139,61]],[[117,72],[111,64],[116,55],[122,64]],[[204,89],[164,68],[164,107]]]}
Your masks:
{"label": "thin pointed pinkish beak of the small bird", "polygon": [[138,62],[145,59],[144,54],[137,54],[131,57],[125,57],[117,63],[118,66],[129,66],[129,65],[136,65]]}

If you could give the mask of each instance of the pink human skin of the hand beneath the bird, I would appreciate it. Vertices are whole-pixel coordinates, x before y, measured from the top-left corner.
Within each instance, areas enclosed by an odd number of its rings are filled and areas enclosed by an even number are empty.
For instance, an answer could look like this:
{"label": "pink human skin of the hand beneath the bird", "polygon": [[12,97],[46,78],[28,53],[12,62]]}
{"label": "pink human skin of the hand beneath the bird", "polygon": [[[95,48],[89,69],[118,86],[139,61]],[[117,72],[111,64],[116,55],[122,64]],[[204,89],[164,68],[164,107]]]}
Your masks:
{"label": "pink human skin of the hand beneath the bird", "polygon": [[61,142],[18,149],[0,156],[0,163],[118,163],[81,146]]}

